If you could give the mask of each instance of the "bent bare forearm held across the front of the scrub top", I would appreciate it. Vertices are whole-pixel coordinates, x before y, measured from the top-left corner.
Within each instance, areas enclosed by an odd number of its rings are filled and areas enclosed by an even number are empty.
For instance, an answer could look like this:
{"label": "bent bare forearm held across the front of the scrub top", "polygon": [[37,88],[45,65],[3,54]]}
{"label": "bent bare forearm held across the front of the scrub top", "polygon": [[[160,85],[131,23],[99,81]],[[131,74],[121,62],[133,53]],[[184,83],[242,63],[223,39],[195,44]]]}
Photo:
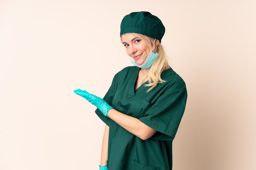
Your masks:
{"label": "bent bare forearm held across the front of the scrub top", "polygon": [[128,116],[115,109],[110,109],[108,111],[108,117],[114,120],[117,124],[122,126],[130,133],[136,135],[137,137],[143,140],[148,139],[157,132],[155,129],[144,124],[139,119],[134,118],[132,116]]}

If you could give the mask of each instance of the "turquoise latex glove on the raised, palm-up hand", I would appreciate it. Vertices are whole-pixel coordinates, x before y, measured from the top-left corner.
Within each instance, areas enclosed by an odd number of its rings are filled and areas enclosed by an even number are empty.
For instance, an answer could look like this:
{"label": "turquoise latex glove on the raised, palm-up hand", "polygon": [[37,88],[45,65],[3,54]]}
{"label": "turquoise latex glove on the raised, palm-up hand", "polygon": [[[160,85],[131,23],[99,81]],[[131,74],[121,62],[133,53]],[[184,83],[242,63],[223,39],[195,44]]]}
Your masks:
{"label": "turquoise latex glove on the raised, palm-up hand", "polygon": [[110,109],[113,109],[113,107],[108,105],[108,103],[105,100],[99,98],[98,96],[95,96],[94,94],[90,94],[85,90],[77,89],[74,90],[74,92],[88,100],[90,103],[92,103],[92,105],[96,106],[106,117],[108,117],[108,111]]}

